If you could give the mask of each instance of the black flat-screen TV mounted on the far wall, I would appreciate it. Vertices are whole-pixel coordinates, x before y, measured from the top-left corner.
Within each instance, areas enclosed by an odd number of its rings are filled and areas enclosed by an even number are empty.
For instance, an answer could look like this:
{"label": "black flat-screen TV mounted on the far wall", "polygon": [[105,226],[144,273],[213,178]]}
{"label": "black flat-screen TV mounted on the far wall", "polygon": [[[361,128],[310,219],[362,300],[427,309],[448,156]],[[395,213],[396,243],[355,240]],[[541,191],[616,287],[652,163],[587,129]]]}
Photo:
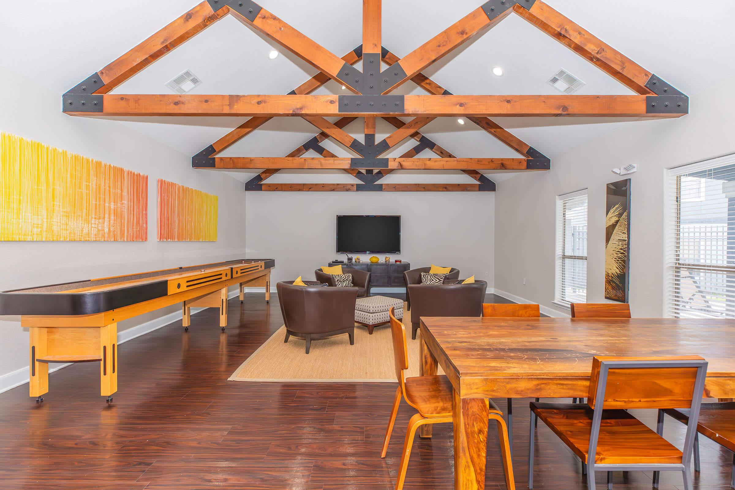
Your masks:
{"label": "black flat-screen TV mounted on the far wall", "polygon": [[337,253],[401,253],[401,217],[337,215]]}

